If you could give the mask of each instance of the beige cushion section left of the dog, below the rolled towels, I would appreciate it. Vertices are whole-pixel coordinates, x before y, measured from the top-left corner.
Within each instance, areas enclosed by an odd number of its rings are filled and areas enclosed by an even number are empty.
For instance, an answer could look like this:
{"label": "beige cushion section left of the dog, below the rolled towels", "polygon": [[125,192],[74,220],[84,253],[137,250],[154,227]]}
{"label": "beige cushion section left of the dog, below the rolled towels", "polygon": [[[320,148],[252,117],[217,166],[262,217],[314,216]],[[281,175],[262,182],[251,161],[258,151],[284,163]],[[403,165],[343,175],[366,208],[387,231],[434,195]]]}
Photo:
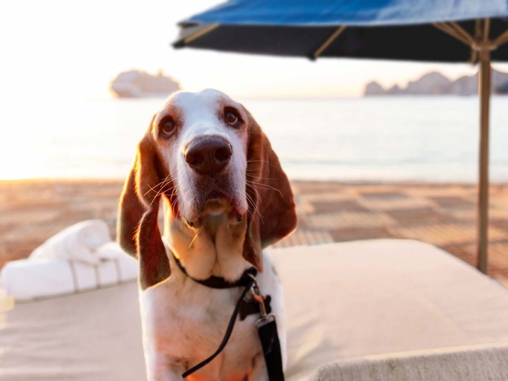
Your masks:
{"label": "beige cushion section left of the dog, below the rolled towels", "polygon": [[0,380],[146,379],[137,282],[2,313]]}

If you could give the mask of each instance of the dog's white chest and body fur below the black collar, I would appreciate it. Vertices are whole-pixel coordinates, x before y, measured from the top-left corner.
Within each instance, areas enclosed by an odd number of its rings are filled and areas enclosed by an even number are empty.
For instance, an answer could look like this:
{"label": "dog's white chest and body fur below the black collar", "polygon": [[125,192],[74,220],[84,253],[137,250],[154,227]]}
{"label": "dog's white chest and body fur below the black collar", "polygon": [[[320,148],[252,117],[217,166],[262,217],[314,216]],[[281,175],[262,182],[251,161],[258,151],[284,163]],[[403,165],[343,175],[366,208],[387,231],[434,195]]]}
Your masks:
{"label": "dog's white chest and body fur below the black collar", "polygon": [[[270,295],[281,346],[285,349],[280,283],[264,253],[265,271],[258,275],[262,293]],[[170,258],[171,277],[140,293],[145,360],[150,380],[177,380],[181,373],[212,355],[224,337],[241,287],[217,290],[186,277]],[[239,318],[231,338],[211,363],[194,373],[196,379],[266,379],[255,321]],[[284,351],[285,352],[285,351]],[[188,379],[193,379],[193,375]]]}

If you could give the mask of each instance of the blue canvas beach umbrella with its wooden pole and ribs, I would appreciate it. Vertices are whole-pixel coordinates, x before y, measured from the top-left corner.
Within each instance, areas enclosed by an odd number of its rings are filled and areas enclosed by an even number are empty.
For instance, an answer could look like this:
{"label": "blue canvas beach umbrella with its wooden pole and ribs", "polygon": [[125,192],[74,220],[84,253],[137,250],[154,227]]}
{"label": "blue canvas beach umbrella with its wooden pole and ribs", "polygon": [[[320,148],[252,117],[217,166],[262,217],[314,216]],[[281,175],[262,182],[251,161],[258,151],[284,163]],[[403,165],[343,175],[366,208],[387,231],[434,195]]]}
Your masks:
{"label": "blue canvas beach umbrella with its wooden pole and ribs", "polygon": [[491,59],[508,0],[231,0],[180,22],[173,46],[255,54],[480,63],[478,268],[487,272]]}

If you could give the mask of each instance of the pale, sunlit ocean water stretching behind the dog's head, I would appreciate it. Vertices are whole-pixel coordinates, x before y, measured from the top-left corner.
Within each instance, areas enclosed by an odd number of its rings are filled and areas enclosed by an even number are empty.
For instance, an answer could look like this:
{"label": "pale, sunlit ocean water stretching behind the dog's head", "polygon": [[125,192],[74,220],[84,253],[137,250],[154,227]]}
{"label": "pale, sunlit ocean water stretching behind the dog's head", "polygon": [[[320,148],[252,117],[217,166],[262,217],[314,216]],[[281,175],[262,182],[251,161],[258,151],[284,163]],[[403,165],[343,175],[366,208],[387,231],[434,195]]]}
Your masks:
{"label": "pale, sunlit ocean water stretching behind the dog's head", "polygon": [[[477,97],[240,101],[291,179],[477,180]],[[13,102],[0,113],[0,179],[123,178],[163,102]],[[508,97],[492,98],[490,149],[491,179],[508,181]]]}

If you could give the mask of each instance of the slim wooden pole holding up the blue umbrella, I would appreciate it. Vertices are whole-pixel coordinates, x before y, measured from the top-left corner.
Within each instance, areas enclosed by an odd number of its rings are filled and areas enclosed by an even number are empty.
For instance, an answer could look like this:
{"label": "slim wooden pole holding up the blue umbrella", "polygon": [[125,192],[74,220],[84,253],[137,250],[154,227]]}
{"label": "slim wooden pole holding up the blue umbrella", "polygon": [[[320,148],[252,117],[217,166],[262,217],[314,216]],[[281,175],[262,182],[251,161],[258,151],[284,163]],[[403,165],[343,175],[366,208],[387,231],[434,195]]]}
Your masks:
{"label": "slim wooden pole holding up the blue umbrella", "polygon": [[480,49],[478,95],[480,98],[480,169],[478,194],[478,269],[487,273],[489,225],[489,108],[491,89],[490,50]]}

